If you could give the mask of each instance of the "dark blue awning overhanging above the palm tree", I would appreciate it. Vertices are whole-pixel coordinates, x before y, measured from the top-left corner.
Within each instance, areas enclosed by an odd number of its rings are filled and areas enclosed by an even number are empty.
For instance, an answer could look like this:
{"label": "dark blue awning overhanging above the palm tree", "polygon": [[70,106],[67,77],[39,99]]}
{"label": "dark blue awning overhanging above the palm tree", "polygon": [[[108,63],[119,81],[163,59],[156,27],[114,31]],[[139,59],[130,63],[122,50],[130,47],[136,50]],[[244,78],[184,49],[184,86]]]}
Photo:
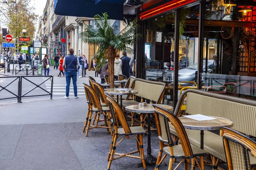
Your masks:
{"label": "dark blue awning overhanging above the palm tree", "polygon": [[110,19],[123,20],[122,0],[55,0],[54,13],[74,17],[94,17],[108,13]]}

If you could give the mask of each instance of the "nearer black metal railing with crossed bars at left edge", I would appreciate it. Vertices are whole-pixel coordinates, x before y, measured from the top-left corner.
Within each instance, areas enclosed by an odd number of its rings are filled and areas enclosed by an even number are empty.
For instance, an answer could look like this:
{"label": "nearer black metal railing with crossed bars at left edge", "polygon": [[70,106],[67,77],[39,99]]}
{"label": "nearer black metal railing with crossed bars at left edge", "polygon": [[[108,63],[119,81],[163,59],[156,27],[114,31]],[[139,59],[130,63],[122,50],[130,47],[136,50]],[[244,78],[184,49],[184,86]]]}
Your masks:
{"label": "nearer black metal railing with crossed bars at left edge", "polygon": [[[35,78],[35,77],[47,77],[47,79],[44,80],[43,82],[37,84],[37,83],[35,83],[35,82],[32,82],[32,80],[29,80],[29,79],[28,79],[29,77],[33,77],[33,78]],[[6,77],[0,77],[0,80],[1,80],[1,79],[6,79],[6,78],[7,78],[7,79],[13,78],[14,80],[11,81],[11,82],[10,82],[9,84],[7,84],[7,85],[1,85],[1,84],[0,84],[0,92],[1,92],[1,91],[7,91],[9,94],[12,94],[12,95],[14,95],[14,96],[13,96],[13,97],[2,98],[2,99],[0,98],[0,100],[4,100],[4,99],[15,99],[15,98],[17,98],[17,102],[18,102],[18,103],[21,103],[21,99],[24,98],[24,97],[50,96],[50,99],[52,99],[52,88],[53,88],[53,76],[52,76],[52,75],[51,75],[51,76],[6,76]],[[18,83],[17,83],[18,91],[14,92],[14,91],[8,90],[7,87],[9,87],[9,86],[12,85],[12,84],[15,84],[15,83],[17,82],[16,80],[18,80]],[[29,91],[27,91],[25,94],[22,94],[23,82],[24,82],[25,80],[26,80],[27,82],[29,82],[30,84],[35,85],[35,86],[33,86],[33,88],[30,89]],[[41,85],[43,85],[43,84],[44,84],[45,82],[47,82],[48,80],[51,81],[51,91],[50,91],[50,92],[41,87]],[[0,81],[0,82],[1,82],[1,81]],[[27,87],[27,85],[26,85],[26,87]],[[41,90],[43,90],[43,91],[46,92],[47,94],[28,95],[29,93],[31,93],[32,91],[35,91],[35,89],[38,89],[38,88],[41,89]],[[12,88],[12,90],[13,90],[13,89],[15,90],[15,88]]]}

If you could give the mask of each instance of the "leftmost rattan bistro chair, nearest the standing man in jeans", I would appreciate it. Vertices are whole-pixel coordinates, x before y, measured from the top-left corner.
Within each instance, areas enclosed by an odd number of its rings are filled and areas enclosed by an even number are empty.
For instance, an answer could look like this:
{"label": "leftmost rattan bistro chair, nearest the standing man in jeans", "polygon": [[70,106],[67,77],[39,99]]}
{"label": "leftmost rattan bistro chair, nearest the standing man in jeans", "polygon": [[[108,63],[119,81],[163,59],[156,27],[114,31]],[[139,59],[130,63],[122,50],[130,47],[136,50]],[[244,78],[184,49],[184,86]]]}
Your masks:
{"label": "leftmost rattan bistro chair, nearest the standing man in jeans", "polygon": [[[87,101],[89,100],[89,103],[90,103],[89,114],[87,114],[86,120],[84,123],[84,127],[86,127],[85,136],[88,135],[88,131],[90,129],[97,128],[97,127],[106,128],[108,131],[110,131],[110,134],[112,135],[111,116],[109,113],[109,107],[102,107],[96,92],[89,85],[84,84],[84,91],[86,96],[88,97]],[[94,116],[92,116],[93,113],[95,113]],[[105,124],[98,125],[99,122],[102,122],[102,120],[99,119],[99,116],[101,115],[101,113],[104,115],[103,121],[105,122]],[[90,125],[92,119],[96,120],[95,126]]]}

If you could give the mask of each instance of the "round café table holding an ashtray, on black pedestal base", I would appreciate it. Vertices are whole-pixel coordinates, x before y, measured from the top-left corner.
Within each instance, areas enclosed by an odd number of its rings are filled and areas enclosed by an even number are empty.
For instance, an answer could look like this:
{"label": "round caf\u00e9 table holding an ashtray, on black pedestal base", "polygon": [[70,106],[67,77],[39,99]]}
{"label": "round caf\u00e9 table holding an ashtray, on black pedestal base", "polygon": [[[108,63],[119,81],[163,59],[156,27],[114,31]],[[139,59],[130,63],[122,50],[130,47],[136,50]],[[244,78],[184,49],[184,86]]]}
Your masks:
{"label": "round caf\u00e9 table holding an ashtray, on black pedestal base", "polygon": [[[166,108],[170,112],[173,111],[173,107],[169,105],[160,105],[163,108]],[[150,113],[155,113],[155,109],[152,104],[148,104],[147,106],[139,106],[139,105],[130,105],[125,107],[126,111],[132,113],[148,113],[148,148],[147,148],[147,155],[145,155],[145,162],[146,164],[152,164],[153,162],[157,162],[157,158],[151,155],[151,123],[150,123]],[[142,161],[139,164],[136,164],[135,167],[142,167]]]}

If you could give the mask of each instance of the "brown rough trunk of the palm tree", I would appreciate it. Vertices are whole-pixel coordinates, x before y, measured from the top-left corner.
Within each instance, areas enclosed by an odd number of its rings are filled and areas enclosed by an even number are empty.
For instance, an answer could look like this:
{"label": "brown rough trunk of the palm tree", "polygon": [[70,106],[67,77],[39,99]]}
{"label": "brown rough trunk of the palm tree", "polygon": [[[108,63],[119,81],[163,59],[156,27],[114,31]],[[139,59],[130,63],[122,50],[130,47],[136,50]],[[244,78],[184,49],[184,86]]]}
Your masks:
{"label": "brown rough trunk of the palm tree", "polygon": [[115,62],[115,49],[112,46],[108,48],[108,82],[110,88],[114,88],[114,62]]}

